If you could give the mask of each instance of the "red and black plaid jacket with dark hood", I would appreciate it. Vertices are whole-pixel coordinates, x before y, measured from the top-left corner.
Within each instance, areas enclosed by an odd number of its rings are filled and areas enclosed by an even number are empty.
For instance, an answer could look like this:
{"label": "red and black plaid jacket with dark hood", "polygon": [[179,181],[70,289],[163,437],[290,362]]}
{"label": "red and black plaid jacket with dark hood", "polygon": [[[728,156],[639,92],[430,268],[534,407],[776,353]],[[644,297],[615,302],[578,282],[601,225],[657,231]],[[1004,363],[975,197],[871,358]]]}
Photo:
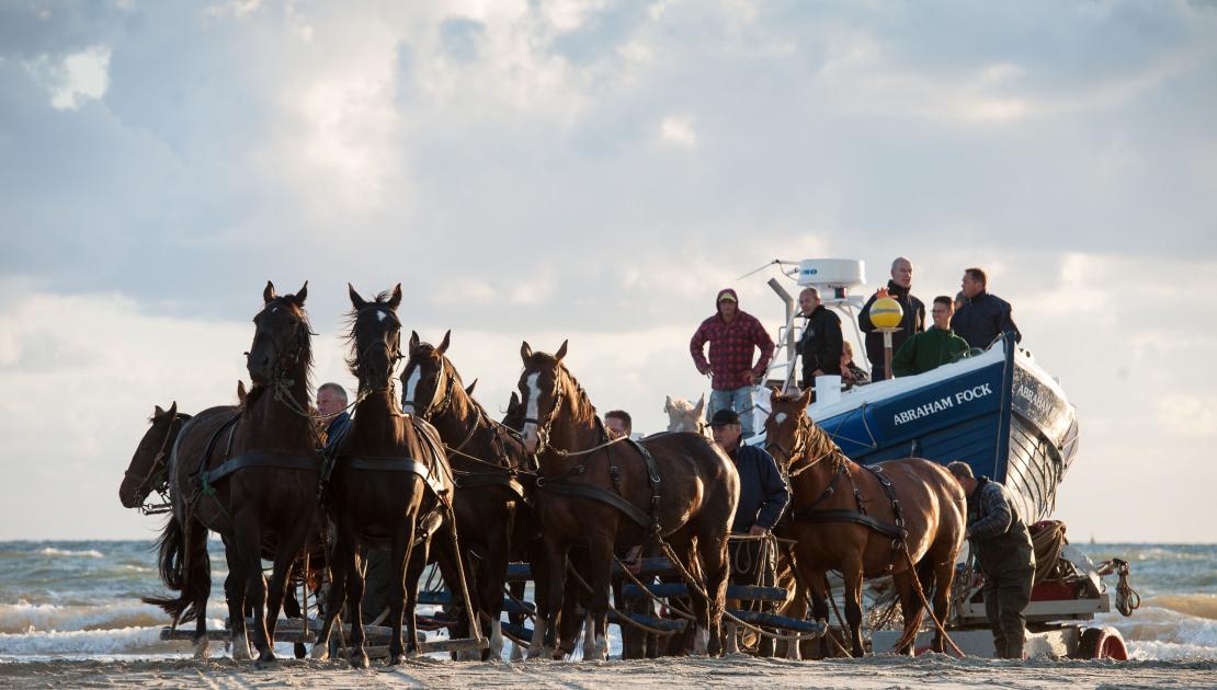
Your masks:
{"label": "red and black plaid jacket with dark hood", "polygon": [[[735,295],[735,290],[723,292]],[[718,309],[717,304],[714,309]],[[706,343],[710,343],[708,362],[703,351]],[[756,364],[752,363],[753,347],[761,350]],[[752,379],[764,375],[773,357],[773,339],[757,317],[736,309],[735,318],[730,323],[723,321],[722,313],[714,313],[701,322],[697,332],[692,334],[692,340],[689,341],[689,352],[699,372],[713,374],[711,388],[735,390],[751,386]]]}

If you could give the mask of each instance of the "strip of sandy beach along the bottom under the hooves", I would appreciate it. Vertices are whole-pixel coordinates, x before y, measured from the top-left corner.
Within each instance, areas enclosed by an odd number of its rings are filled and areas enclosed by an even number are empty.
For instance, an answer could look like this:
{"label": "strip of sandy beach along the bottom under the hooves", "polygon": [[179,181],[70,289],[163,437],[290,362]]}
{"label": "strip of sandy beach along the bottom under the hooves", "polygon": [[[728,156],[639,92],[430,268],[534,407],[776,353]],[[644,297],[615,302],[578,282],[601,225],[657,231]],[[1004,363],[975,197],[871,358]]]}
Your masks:
{"label": "strip of sandy beach along the bottom under the hooves", "polygon": [[0,664],[4,688],[420,688],[420,686],[769,686],[769,688],[1212,688],[1217,662],[1026,662],[879,656],[796,662],[728,658],[455,663],[416,660],[398,668],[353,671],[344,663],[280,661],[268,671],[228,658],[196,662],[50,661]]}

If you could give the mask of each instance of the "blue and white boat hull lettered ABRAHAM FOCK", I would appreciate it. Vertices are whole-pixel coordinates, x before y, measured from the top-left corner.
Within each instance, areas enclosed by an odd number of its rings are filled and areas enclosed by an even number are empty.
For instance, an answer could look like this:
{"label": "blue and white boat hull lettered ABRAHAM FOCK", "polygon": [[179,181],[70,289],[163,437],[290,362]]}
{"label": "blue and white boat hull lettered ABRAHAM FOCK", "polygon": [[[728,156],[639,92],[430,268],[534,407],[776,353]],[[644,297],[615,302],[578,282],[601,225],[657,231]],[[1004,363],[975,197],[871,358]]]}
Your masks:
{"label": "blue and white boat hull lettered ABRAHAM FOCK", "polygon": [[1004,339],[977,357],[813,405],[812,419],[864,465],[964,460],[1003,482],[1028,521],[1048,518],[1077,453],[1077,412],[1028,352]]}

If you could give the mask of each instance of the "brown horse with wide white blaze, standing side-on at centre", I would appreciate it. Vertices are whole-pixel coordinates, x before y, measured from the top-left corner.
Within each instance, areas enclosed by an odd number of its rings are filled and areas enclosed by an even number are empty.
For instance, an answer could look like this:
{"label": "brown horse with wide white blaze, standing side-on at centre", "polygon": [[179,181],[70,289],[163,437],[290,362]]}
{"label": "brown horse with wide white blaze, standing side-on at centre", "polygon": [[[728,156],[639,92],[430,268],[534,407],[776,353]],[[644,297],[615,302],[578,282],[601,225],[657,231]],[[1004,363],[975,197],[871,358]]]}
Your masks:
{"label": "brown horse with wide white blaze, standing side-on at centre", "polygon": [[[608,581],[616,552],[667,539],[689,577],[702,573],[692,596],[695,650],[717,655],[727,593],[727,535],[739,502],[739,475],[730,459],[696,434],[666,434],[610,442],[587,394],[557,352],[520,347],[518,389],[525,407],[525,449],[540,463],[538,514],[544,527],[549,596],[538,601],[529,656],[553,655],[562,607],[567,552],[589,550],[587,658],[607,657]],[[644,508],[640,508],[644,507]],[[623,520],[624,518],[624,520]],[[700,564],[699,564],[700,558]],[[703,586],[703,587],[702,587]]]}

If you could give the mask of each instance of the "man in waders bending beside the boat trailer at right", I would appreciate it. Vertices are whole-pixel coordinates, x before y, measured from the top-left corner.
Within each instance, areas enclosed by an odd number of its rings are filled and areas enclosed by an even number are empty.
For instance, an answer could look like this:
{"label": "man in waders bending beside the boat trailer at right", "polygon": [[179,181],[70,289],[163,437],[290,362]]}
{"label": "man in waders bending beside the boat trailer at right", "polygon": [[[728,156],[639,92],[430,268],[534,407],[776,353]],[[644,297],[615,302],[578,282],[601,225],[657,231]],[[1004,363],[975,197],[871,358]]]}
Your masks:
{"label": "man in waders bending beside the boat trailer at right", "polygon": [[968,494],[964,535],[985,576],[985,615],[993,630],[993,647],[998,657],[1022,658],[1027,635],[1022,611],[1031,601],[1036,575],[1031,532],[1004,486],[986,476],[976,479],[972,468],[960,460],[947,469]]}

